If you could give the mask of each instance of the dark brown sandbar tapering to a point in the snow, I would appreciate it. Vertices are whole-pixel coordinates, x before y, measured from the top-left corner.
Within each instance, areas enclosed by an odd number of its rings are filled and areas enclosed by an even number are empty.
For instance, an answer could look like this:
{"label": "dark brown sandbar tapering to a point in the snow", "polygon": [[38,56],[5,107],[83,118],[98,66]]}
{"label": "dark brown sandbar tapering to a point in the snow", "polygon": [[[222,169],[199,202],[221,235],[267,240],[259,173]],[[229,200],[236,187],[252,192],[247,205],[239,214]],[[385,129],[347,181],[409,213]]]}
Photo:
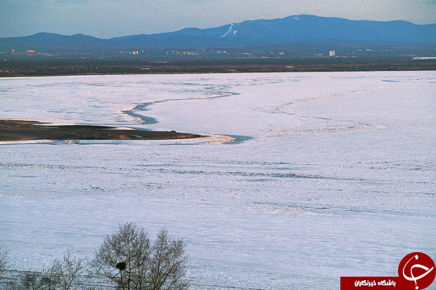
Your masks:
{"label": "dark brown sandbar tapering to a point in the snow", "polygon": [[51,125],[39,121],[0,120],[0,141],[14,140],[169,140],[205,136],[176,131],[143,131],[95,125]]}

